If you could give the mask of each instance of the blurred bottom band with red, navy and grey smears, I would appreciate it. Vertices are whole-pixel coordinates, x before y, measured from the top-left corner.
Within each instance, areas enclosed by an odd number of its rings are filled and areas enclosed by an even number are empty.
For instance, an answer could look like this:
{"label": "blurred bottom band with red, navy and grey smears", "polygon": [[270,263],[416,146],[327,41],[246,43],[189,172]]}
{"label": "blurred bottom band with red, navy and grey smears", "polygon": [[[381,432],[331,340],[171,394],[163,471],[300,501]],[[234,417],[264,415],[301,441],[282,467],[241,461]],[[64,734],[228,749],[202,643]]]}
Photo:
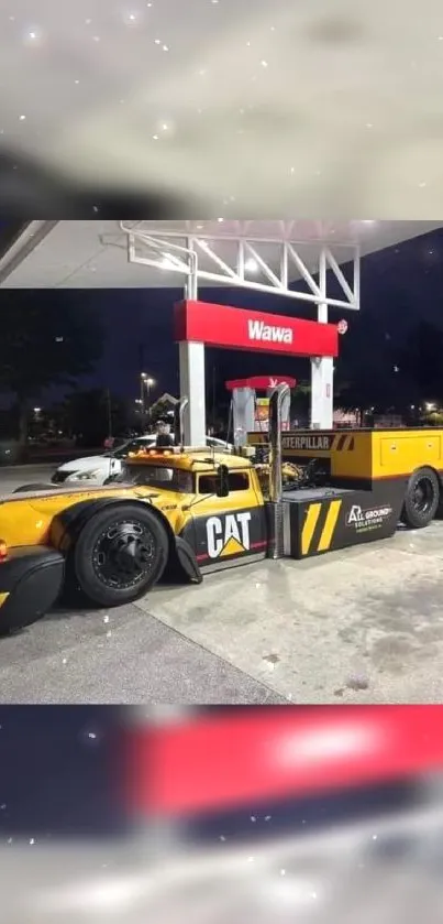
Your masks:
{"label": "blurred bottom band with red, navy and grey smears", "polygon": [[439,706],[3,708],[5,920],[436,924],[442,722]]}

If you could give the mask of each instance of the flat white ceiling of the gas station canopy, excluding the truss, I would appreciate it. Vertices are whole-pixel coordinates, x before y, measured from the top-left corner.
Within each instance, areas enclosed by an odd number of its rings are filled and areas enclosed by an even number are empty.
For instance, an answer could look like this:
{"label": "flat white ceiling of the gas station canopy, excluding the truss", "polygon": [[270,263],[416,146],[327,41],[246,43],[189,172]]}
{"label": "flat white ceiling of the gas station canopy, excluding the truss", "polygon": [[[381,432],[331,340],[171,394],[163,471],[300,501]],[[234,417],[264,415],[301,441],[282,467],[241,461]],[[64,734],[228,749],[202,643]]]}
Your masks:
{"label": "flat white ceiling of the gas station canopy, excluding the truss", "polygon": [[[189,238],[210,243],[212,253],[232,265],[239,241],[248,242],[267,267],[276,270],[281,241],[291,242],[304,265],[318,271],[322,244],[334,253],[339,264],[391,247],[442,227],[438,221],[313,221],[313,220],[177,220],[124,222],[142,228],[163,240],[162,261],[156,265],[131,264],[128,235],[119,221],[30,221],[12,247],[0,258],[0,285],[12,289],[126,289],[179,287],[182,278],[171,270],[171,247],[185,247]],[[169,248],[169,249],[168,249]],[[157,248],[158,251],[158,248]],[[151,254],[152,256],[152,254]],[[246,260],[246,274],[253,283],[261,270],[257,260]],[[213,269],[213,259],[200,248],[199,265]],[[220,267],[219,267],[220,269]],[[289,282],[300,278],[296,262]],[[230,282],[229,279],[224,280]],[[211,280],[211,285],[218,281]],[[235,285],[235,282],[231,281]],[[253,286],[251,286],[253,287]]]}

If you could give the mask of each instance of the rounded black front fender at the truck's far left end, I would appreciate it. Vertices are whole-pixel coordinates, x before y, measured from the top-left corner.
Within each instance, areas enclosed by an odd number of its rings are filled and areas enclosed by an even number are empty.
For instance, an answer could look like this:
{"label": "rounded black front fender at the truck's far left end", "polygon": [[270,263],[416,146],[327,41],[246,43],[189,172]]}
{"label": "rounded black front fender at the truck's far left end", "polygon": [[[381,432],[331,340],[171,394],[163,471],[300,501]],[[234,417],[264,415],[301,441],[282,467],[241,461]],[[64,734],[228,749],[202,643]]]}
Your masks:
{"label": "rounded black front fender at the truck's far left end", "polygon": [[0,634],[45,616],[59,596],[64,556],[45,545],[11,548],[0,562]]}

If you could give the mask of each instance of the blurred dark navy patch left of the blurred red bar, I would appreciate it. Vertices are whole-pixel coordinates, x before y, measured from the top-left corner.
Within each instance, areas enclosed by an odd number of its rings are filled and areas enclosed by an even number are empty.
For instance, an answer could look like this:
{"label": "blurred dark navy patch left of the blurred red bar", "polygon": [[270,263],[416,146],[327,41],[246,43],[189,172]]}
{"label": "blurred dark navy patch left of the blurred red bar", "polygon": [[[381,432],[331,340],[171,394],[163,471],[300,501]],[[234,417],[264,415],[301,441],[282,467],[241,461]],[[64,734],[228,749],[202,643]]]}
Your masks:
{"label": "blurred dark navy patch left of the blurred red bar", "polygon": [[0,844],[123,833],[119,730],[115,708],[0,706]]}

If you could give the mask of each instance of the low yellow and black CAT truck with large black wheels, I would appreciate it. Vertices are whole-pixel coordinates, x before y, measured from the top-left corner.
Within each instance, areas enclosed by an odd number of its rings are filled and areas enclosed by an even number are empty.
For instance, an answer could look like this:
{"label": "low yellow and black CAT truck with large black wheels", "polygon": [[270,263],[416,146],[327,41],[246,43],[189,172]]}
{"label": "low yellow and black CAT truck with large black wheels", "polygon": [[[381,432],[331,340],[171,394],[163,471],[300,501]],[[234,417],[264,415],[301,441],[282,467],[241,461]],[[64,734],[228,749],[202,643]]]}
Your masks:
{"label": "low yellow and black CAT truck with large black wheels", "polygon": [[[300,559],[425,526],[441,509],[443,433],[281,433],[287,387],[269,405],[269,444],[237,455],[182,446],[128,458],[88,490],[24,486],[0,498],[0,632],[42,618],[69,588],[112,607],[167,573],[199,583],[257,558]],[[251,457],[252,454],[255,456]]]}

